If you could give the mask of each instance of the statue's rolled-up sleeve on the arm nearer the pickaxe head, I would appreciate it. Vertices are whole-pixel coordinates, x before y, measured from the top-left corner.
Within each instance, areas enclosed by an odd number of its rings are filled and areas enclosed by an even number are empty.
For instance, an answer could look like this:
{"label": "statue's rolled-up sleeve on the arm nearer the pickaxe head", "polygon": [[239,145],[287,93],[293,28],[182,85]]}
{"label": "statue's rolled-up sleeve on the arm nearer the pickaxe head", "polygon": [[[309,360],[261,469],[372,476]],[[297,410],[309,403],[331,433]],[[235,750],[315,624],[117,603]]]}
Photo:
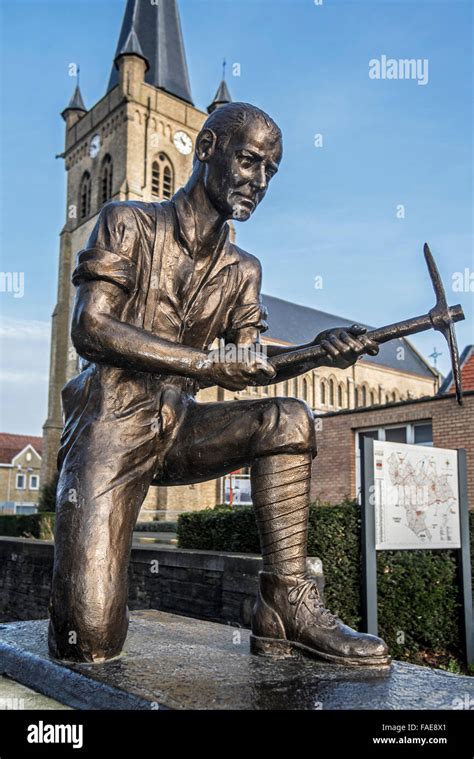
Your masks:
{"label": "statue's rolled-up sleeve on the arm nearer the pickaxe head", "polygon": [[262,267],[260,261],[247,254],[242,266],[242,284],[239,295],[229,315],[226,339],[238,342],[238,333],[242,330],[265,332],[268,329],[266,318],[267,309],[262,303],[260,288],[262,282]]}

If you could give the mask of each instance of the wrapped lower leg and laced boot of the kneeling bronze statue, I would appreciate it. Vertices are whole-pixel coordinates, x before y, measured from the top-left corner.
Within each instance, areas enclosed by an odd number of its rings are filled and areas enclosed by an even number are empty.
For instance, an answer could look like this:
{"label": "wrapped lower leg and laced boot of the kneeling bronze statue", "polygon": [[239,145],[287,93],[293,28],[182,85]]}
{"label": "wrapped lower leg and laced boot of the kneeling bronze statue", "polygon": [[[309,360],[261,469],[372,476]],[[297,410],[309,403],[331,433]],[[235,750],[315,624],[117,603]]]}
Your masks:
{"label": "wrapped lower leg and laced boot of the kneeling bronze statue", "polygon": [[326,609],[307,576],[310,454],[280,454],[252,467],[252,499],[263,571],[252,616],[251,651],[273,657],[295,653],[346,665],[386,665],[386,643],[359,633]]}

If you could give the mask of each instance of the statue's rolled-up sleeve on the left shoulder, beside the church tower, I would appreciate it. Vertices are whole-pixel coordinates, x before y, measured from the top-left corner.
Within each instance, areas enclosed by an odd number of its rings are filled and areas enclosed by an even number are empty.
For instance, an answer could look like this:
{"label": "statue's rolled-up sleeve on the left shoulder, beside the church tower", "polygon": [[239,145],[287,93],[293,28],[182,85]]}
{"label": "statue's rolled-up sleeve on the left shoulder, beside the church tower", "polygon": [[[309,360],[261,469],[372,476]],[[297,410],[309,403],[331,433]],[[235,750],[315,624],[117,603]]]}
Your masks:
{"label": "statue's rolled-up sleeve on the left shoulder, beside the church tower", "polygon": [[72,282],[104,280],[133,292],[137,278],[137,222],[126,203],[104,206],[87,241],[77,254]]}

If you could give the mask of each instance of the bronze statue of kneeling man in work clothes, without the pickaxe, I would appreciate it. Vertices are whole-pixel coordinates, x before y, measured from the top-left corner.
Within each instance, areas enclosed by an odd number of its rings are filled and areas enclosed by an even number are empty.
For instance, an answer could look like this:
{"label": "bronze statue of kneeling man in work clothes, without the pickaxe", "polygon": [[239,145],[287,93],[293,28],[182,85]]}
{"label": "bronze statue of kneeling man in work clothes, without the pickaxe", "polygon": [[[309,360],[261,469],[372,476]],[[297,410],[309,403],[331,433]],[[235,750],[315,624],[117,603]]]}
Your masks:
{"label": "bronze statue of kneeling man in work clothes, without the pickaxe", "polygon": [[[227,221],[252,215],[281,157],[281,132],[269,116],[225,105],[197,138],[186,186],[162,203],[108,203],[78,254],[72,340],[85,362],[62,393],[49,627],[55,657],[100,662],[120,653],[132,531],[151,484],[200,482],[250,466],[263,555],[252,652],[390,661],[381,639],[324,608],[306,574],[316,455],[310,409],[294,398],[194,397],[213,384],[241,390],[281,382],[309,365],[345,368],[378,351],[357,325],[307,346],[270,346],[267,356],[258,350],[266,328],[260,264],[230,241]],[[216,338],[246,353],[228,361],[211,350]],[[314,346],[321,350],[308,363]],[[277,366],[286,353],[291,360],[275,368],[272,358]]]}

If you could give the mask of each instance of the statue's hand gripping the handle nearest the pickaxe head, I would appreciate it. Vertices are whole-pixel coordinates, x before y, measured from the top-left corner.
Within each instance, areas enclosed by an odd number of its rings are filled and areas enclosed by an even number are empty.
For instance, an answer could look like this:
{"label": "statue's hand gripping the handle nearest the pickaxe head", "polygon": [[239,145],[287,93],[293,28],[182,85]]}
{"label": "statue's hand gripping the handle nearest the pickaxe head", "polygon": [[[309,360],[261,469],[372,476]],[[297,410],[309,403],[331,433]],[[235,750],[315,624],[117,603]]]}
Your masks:
{"label": "statue's hand gripping the handle nearest the pickaxe head", "polygon": [[359,324],[352,327],[336,327],[320,332],[314,344],[320,345],[327,353],[326,366],[336,366],[338,369],[347,369],[355,364],[364,353],[376,356],[379,346],[366,335],[367,328]]}

